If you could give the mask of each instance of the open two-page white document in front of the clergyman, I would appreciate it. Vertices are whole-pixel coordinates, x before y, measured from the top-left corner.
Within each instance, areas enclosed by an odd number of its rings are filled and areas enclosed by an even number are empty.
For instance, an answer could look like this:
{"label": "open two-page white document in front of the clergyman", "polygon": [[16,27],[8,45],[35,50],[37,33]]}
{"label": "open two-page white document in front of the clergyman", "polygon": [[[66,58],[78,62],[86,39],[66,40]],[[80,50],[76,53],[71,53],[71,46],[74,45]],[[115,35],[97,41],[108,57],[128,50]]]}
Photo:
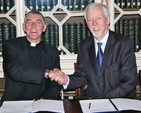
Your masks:
{"label": "open two-page white document in front of the clergyman", "polygon": [[64,113],[62,100],[4,101],[0,113],[34,113],[49,111]]}

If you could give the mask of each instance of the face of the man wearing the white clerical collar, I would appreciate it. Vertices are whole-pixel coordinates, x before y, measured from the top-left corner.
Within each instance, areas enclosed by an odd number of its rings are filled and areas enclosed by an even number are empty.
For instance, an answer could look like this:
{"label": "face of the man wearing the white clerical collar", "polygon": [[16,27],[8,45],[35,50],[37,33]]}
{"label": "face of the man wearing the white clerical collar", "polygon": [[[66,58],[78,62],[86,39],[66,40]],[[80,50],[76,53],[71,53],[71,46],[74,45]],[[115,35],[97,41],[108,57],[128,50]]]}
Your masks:
{"label": "face of the man wearing the white clerical collar", "polygon": [[38,14],[28,14],[25,24],[23,24],[24,32],[31,42],[39,42],[42,32],[46,30],[46,25],[43,24],[43,18]]}

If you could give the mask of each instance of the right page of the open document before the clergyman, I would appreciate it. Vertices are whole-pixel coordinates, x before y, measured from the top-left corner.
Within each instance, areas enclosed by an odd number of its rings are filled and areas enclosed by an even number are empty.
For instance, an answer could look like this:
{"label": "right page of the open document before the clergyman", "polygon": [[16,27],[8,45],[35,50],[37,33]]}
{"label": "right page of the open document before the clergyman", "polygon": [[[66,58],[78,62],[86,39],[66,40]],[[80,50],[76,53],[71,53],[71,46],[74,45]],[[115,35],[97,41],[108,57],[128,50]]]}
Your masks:
{"label": "right page of the open document before the clergyman", "polygon": [[52,111],[64,113],[64,105],[62,100],[38,100],[33,103],[32,112]]}

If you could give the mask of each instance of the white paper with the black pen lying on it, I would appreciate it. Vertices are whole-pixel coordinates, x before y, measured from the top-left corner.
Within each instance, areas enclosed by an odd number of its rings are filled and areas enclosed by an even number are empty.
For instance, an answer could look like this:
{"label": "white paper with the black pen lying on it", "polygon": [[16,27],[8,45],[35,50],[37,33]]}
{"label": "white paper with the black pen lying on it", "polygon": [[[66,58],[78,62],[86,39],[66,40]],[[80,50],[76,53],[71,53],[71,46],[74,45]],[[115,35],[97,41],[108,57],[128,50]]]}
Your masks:
{"label": "white paper with the black pen lying on it", "polygon": [[80,100],[79,102],[83,113],[117,111],[109,99]]}

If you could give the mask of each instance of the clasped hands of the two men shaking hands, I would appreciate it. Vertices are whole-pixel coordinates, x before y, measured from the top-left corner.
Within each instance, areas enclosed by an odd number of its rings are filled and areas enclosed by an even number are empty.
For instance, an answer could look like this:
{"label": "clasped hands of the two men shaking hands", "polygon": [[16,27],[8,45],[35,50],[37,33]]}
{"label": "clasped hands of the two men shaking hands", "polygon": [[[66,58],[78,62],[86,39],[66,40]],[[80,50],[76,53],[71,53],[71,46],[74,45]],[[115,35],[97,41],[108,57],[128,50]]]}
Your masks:
{"label": "clasped hands of the two men shaking hands", "polygon": [[57,68],[50,70],[49,78],[51,81],[56,81],[60,85],[65,85],[68,82],[68,76]]}

